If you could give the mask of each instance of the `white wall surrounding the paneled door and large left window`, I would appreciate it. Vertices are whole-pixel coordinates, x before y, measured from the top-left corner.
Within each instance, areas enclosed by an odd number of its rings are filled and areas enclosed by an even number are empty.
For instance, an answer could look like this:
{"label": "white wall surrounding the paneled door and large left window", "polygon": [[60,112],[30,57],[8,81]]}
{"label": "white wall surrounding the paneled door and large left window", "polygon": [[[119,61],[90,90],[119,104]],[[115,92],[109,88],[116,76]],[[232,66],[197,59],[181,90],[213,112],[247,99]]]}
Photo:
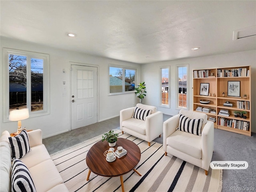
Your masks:
{"label": "white wall surrounding the paneled door and large left window", "polygon": [[[3,48],[50,55],[50,114],[22,120],[22,126],[26,126],[27,129],[41,129],[44,138],[70,129],[70,62],[99,66],[99,121],[118,116],[121,109],[135,106],[138,102],[134,93],[108,96],[108,64],[138,68],[138,82],[140,82],[141,66],[139,64],[58,50],[1,37],[1,58],[3,58]],[[17,130],[17,122],[3,122],[2,106],[3,102],[6,102],[3,100],[3,84],[6,82],[2,78],[2,59],[0,64],[0,132],[8,130],[12,133]],[[63,69],[66,71],[64,74]],[[62,81],[66,81],[68,90],[66,97],[62,96]]]}

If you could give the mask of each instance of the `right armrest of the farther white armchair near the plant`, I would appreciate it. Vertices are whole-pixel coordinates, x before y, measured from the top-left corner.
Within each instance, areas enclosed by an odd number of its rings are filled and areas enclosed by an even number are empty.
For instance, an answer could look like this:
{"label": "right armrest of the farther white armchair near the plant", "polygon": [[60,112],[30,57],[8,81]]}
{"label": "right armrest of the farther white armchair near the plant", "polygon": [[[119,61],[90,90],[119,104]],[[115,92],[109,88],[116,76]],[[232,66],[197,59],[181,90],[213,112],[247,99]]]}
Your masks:
{"label": "right armrest of the farther white armchair near the plant", "polygon": [[146,140],[152,141],[163,132],[163,113],[157,111],[146,116]]}

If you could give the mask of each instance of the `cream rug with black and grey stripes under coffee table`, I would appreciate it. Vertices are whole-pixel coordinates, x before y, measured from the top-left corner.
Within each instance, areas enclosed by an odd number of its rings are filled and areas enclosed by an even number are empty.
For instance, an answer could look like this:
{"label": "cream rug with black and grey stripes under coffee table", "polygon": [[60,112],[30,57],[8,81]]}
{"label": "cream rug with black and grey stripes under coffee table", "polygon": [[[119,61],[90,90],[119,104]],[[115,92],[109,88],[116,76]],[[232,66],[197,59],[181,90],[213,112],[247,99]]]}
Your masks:
{"label": "cream rug with black and grey stripes under coffee table", "polygon": [[[164,156],[162,144],[148,142],[129,134],[115,130],[120,138],[126,138],[136,143],[141,151],[141,158],[134,171],[123,176],[124,190],[137,192],[219,192],[222,190],[222,170],[209,169],[208,176],[204,170],[179,158]],[[122,191],[120,177],[107,178],[90,174],[86,181],[88,167],[86,154],[91,146],[101,140],[101,136],[86,140],[76,146],[51,154],[64,184],[70,192],[119,192]]]}

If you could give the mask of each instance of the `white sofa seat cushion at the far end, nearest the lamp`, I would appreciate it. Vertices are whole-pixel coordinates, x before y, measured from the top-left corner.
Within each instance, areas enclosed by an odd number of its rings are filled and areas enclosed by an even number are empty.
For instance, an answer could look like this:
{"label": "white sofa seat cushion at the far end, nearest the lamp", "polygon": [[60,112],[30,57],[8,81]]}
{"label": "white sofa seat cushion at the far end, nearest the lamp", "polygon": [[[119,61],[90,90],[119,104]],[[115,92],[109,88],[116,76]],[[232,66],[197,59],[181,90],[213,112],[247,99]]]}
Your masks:
{"label": "white sofa seat cushion at the far end, nearest the lamp", "polygon": [[24,162],[28,168],[51,159],[44,144],[34,146],[31,149],[32,150],[28,154],[21,158],[22,162]]}

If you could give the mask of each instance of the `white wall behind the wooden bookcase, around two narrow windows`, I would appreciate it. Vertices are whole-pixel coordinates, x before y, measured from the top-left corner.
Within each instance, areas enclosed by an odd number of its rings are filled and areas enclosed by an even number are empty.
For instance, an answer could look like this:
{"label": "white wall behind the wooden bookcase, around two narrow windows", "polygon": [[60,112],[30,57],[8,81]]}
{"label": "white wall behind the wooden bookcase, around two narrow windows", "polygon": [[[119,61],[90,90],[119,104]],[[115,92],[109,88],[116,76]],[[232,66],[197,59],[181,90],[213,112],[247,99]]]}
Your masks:
{"label": "white wall behind the wooden bookcase, around two narrow windows", "polygon": [[[191,58],[183,60],[174,60],[166,62],[157,62],[151,64],[142,65],[142,76],[141,81],[146,83],[147,96],[144,98],[145,104],[157,106],[159,111],[164,114],[175,115],[178,114],[179,109],[176,109],[176,65],[177,64],[189,64],[189,110],[193,109],[193,97],[192,97],[192,70],[202,68],[219,68],[219,67],[230,67],[230,66],[251,66],[251,81],[252,81],[252,92],[251,92],[251,106],[252,106],[252,132],[256,132],[256,50],[236,52],[230,54],[221,54],[214,56],[206,56],[200,58]],[[160,66],[170,66],[170,108],[163,108],[159,106],[160,98]],[[242,86],[242,85],[241,85]]]}

